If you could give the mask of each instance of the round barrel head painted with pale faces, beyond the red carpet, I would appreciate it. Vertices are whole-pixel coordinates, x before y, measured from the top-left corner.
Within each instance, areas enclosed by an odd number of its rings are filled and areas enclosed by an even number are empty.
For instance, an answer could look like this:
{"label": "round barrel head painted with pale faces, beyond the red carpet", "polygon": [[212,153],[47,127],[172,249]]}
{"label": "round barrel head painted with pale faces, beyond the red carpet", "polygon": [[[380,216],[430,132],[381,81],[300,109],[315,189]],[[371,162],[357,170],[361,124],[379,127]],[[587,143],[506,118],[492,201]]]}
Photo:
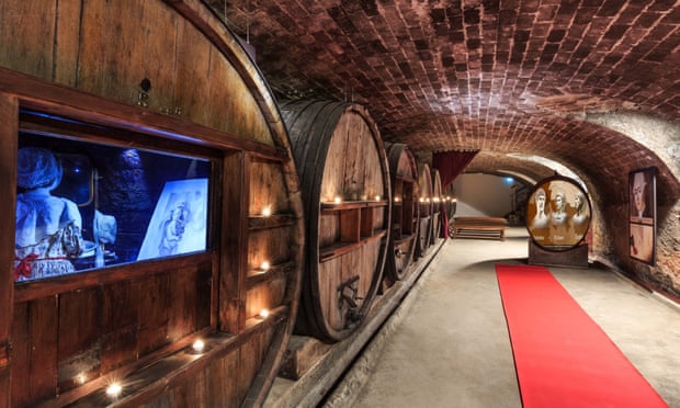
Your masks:
{"label": "round barrel head painted with pale faces, beyond the red carpet", "polygon": [[533,241],[552,251],[578,246],[590,226],[588,193],[566,177],[536,183],[526,203],[526,229]]}

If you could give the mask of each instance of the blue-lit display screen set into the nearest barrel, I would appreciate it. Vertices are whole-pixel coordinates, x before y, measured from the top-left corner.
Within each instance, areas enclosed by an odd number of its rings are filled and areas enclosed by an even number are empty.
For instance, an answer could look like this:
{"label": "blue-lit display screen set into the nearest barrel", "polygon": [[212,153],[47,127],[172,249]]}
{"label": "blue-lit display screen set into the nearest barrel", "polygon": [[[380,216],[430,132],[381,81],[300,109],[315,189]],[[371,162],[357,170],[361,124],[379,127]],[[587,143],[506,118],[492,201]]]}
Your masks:
{"label": "blue-lit display screen set into the nearest barrel", "polygon": [[14,280],[207,249],[211,161],[21,132]]}

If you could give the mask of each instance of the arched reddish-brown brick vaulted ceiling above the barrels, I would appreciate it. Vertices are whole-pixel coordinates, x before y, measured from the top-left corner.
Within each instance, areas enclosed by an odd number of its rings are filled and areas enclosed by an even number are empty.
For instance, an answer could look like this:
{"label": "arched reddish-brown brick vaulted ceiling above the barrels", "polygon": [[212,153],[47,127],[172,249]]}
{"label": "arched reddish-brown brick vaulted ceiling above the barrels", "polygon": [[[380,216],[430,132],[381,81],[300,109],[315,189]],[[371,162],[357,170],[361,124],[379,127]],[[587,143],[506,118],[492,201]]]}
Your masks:
{"label": "arched reddish-brown brick vaulted ceiling above the barrels", "polygon": [[479,149],[479,170],[521,167],[505,159],[521,152],[598,179],[593,165],[639,149],[585,114],[680,112],[675,0],[206,2],[256,48],[277,99],[364,104],[385,140]]}

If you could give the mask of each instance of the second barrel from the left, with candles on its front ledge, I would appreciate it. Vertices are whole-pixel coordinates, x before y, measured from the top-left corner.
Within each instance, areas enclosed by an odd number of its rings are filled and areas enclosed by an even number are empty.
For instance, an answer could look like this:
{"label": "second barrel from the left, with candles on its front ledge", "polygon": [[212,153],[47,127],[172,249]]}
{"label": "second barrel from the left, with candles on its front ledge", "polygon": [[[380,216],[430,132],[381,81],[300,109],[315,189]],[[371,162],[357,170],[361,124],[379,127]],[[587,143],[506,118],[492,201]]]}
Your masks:
{"label": "second barrel from the left, with candles on its front ledge", "polygon": [[392,211],[385,147],[358,104],[302,100],[280,107],[306,218],[295,332],[337,342],[364,321],[383,275]]}

